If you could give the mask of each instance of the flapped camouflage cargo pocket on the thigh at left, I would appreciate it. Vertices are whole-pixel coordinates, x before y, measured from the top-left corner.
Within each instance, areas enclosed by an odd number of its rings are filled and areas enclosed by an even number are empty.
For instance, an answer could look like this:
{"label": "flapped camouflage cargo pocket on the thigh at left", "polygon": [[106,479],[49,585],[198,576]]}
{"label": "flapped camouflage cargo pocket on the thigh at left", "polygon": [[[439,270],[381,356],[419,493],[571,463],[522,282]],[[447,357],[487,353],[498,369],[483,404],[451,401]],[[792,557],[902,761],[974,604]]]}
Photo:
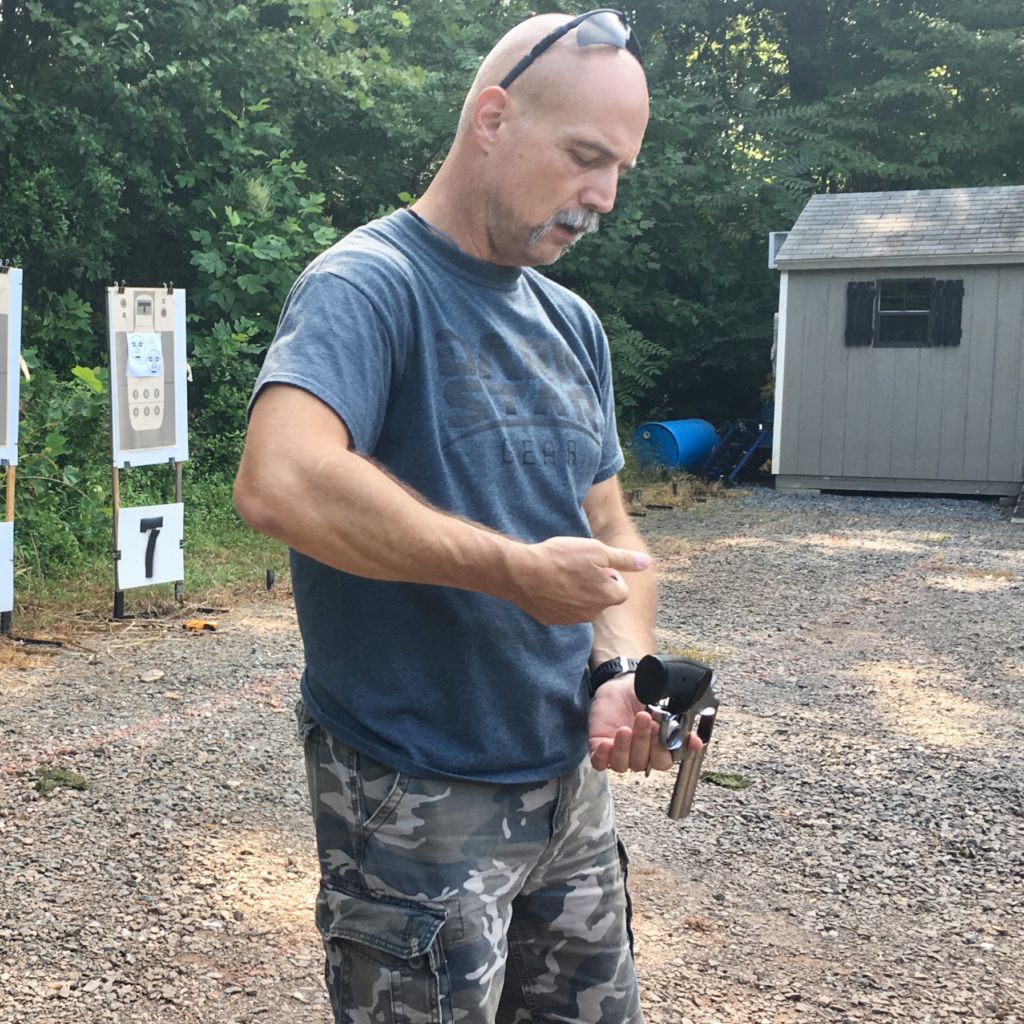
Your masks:
{"label": "flapped camouflage cargo pocket on the thigh at left", "polygon": [[446,913],[389,897],[321,888],[316,927],[337,1020],[453,1024],[452,990],[438,938]]}

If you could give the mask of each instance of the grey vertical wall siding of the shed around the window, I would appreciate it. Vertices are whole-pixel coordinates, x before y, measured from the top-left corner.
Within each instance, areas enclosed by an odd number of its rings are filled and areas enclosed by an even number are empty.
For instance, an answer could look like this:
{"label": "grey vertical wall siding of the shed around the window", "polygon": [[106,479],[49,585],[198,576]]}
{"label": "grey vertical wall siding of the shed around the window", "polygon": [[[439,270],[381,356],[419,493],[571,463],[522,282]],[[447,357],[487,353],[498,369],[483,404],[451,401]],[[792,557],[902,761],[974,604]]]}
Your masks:
{"label": "grey vertical wall siding of the shed around the window", "polygon": [[1024,266],[943,269],[964,281],[949,348],[847,347],[846,288],[927,268],[791,271],[779,463],[792,476],[1024,479]]}

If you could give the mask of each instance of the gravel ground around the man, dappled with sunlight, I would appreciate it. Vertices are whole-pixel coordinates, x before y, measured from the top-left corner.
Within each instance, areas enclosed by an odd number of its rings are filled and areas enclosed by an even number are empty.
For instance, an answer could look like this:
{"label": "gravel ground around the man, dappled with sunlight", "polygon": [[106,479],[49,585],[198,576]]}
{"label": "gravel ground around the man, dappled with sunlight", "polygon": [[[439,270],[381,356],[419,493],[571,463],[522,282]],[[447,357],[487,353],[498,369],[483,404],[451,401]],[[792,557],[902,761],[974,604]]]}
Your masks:
{"label": "gravel ground around the man, dappled with sunlight", "polygon": [[[706,767],[752,782],[681,822],[670,778],[615,782],[650,1024],[1024,1021],[1009,515],[759,490],[638,520],[663,646],[719,669]],[[287,592],[0,655],[0,1022],[327,1024]]]}

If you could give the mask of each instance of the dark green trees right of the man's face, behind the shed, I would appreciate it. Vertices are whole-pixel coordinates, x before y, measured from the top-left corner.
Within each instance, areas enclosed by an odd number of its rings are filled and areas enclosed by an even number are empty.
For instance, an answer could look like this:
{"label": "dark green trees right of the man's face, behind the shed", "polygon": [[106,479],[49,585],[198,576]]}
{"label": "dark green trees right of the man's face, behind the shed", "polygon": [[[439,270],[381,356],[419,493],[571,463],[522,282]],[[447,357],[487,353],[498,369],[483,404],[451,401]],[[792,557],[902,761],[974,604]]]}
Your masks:
{"label": "dark green trees right of the man's face, behind the shed", "polygon": [[556,276],[671,354],[644,418],[756,415],[767,233],[815,191],[1024,181],[1024,7],[1006,0],[660,0],[637,171]]}

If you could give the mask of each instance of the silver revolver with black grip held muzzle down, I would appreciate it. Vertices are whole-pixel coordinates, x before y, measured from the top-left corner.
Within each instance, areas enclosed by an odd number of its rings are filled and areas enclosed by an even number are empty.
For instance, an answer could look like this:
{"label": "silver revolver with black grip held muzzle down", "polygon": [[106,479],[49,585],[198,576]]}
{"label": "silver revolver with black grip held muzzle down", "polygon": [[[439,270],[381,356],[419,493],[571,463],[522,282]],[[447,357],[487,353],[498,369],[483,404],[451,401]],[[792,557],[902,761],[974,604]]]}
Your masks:
{"label": "silver revolver with black grip held muzzle down", "polygon": [[[715,673],[682,654],[648,654],[637,666],[633,689],[657,725],[658,742],[672,751],[672,759],[679,765],[669,817],[674,821],[684,818],[693,804],[693,791],[718,714]],[[687,744],[694,725],[703,741],[699,751],[691,751]]]}

